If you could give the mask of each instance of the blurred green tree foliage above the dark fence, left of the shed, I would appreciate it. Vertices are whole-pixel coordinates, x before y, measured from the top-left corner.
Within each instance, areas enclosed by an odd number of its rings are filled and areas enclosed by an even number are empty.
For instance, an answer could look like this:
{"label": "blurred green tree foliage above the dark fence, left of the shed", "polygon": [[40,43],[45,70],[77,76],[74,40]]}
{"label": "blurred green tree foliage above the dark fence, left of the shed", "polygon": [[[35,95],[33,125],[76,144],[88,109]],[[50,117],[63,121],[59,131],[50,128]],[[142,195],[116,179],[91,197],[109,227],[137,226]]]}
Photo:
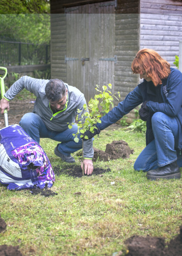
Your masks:
{"label": "blurred green tree foliage above the dark fence, left of the shed", "polygon": [[50,42],[49,0],[1,0],[0,38]]}

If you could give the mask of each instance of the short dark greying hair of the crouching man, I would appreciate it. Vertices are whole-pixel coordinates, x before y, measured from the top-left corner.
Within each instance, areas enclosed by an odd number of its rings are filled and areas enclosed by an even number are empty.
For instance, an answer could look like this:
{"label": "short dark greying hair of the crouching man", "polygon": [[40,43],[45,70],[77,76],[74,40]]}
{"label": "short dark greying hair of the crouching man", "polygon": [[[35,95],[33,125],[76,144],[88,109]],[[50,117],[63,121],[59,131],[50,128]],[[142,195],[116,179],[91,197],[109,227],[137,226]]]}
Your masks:
{"label": "short dark greying hair of the crouching man", "polygon": [[60,79],[50,79],[45,86],[45,94],[50,101],[58,101],[66,94],[66,86]]}

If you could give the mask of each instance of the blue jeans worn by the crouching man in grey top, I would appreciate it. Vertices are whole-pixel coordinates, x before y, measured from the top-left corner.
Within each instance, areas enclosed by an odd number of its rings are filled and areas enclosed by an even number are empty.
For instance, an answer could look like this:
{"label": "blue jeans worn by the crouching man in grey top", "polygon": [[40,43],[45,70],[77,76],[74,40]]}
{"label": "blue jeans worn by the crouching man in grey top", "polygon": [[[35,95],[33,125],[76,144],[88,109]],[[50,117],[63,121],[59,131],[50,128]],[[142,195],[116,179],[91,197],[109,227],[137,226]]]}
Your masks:
{"label": "blue jeans worn by the crouching man in grey top", "polygon": [[74,153],[82,148],[82,139],[79,135],[79,142],[75,142],[72,135],[73,133],[77,133],[77,124],[74,124],[72,129],[67,129],[63,132],[54,132],[46,128],[45,123],[39,115],[35,113],[27,113],[20,120],[20,126],[38,143],[40,138],[50,138],[61,142],[58,146],[58,150],[64,155],[70,155],[70,153]]}

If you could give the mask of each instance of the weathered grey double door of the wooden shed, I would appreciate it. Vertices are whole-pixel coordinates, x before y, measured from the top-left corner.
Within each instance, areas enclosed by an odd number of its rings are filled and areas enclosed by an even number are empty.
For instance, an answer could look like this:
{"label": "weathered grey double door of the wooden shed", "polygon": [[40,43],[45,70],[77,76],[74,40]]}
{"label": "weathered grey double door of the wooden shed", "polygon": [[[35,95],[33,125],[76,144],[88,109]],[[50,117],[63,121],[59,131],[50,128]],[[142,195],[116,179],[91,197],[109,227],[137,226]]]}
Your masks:
{"label": "weathered grey double door of the wooden shed", "polygon": [[79,88],[87,102],[96,84],[111,83],[114,92],[114,12],[115,1],[66,8],[67,83]]}

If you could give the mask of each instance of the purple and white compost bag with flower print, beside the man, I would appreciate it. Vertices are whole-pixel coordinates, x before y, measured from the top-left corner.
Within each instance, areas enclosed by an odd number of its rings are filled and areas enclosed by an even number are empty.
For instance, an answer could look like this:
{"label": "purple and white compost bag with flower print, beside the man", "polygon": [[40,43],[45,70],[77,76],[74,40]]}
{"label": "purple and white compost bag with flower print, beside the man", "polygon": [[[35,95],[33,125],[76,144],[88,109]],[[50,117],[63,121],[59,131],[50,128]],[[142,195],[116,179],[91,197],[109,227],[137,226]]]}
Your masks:
{"label": "purple and white compost bag with flower print, beside the man", "polygon": [[18,124],[0,130],[0,182],[10,189],[52,187],[55,175],[43,148]]}

